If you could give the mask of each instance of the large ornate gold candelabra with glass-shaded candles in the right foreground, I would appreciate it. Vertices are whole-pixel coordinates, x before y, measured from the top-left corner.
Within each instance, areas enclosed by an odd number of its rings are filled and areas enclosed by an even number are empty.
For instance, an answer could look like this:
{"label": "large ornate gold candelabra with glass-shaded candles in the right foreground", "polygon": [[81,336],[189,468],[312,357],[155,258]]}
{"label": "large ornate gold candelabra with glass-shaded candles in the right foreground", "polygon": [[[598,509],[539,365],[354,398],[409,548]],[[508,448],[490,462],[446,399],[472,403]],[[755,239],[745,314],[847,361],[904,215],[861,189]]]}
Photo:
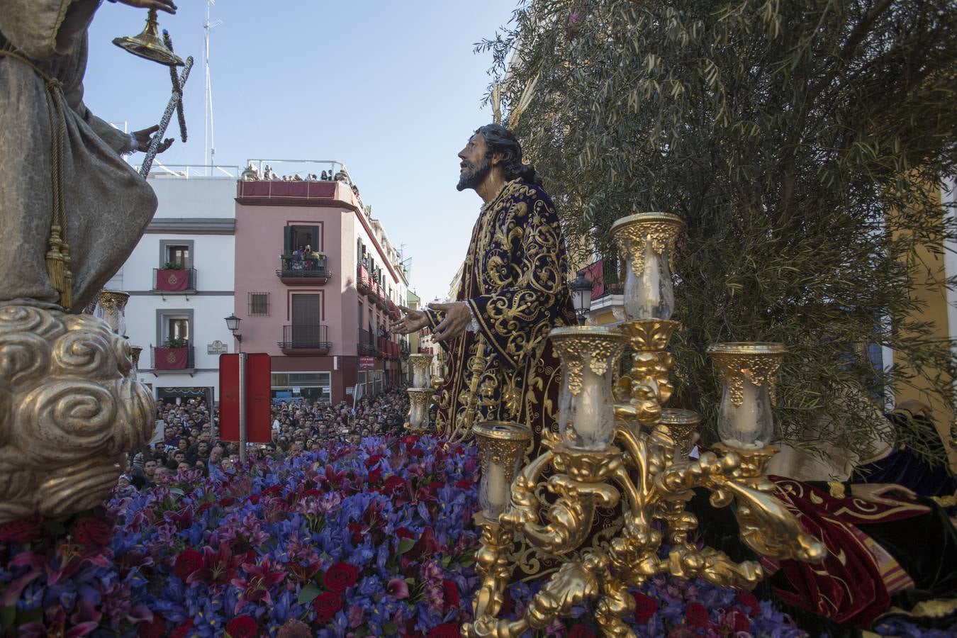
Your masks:
{"label": "large ornate gold candelabra with glass-shaded candles in the right foreground", "polygon": [[[713,348],[724,385],[721,413],[738,434],[719,446],[723,455],[705,452],[698,460],[688,459],[700,417],[691,410],[662,409],[674,389],[667,346],[679,327],[671,319],[671,274],[682,226],[679,217],[667,213],[640,213],[612,226],[627,261],[628,320],[620,329],[578,326],[550,333],[562,361],[563,389],[559,431],[545,432],[545,452],[519,468],[531,438],[526,426],[486,422],[474,427],[482,463],[482,512],[477,515],[482,582],[473,602],[475,620],[462,627],[464,635],[519,636],[591,601],[603,632],[634,636],[624,622],[634,614],[628,589],[660,573],[753,587],[763,578],[759,563],[732,561],[714,548],[699,549],[690,539],[698,520],[685,506],[696,487],[710,491],[716,507],[736,501],[742,539],[759,554],[824,559],[823,545],[805,534],[771,494],[765,473],[776,450],[765,446],[769,399],[761,402],[772,395],[773,362],[780,364],[783,346]],[[631,370],[615,380],[626,344]],[[732,354],[721,354],[727,351]],[[737,389],[742,380],[746,391]],[[549,468],[552,473],[545,475]],[[585,547],[599,507],[620,507],[621,517],[610,541]],[[509,551],[516,535],[561,565],[521,617],[506,619],[500,617],[501,605],[512,577]],[[662,542],[670,546],[664,557],[659,556]]]}

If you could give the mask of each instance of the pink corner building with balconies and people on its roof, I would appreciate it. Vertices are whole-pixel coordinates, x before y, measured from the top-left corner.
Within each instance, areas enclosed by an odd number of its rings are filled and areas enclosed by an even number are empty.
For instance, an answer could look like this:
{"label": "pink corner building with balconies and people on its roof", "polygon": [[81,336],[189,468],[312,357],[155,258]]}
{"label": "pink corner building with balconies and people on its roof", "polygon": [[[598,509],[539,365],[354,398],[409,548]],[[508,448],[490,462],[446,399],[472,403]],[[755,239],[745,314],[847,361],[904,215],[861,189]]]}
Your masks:
{"label": "pink corner building with balconies and people on its roof", "polygon": [[406,375],[389,336],[408,280],[345,182],[237,182],[235,315],[245,352],[272,357],[273,396],[351,402]]}

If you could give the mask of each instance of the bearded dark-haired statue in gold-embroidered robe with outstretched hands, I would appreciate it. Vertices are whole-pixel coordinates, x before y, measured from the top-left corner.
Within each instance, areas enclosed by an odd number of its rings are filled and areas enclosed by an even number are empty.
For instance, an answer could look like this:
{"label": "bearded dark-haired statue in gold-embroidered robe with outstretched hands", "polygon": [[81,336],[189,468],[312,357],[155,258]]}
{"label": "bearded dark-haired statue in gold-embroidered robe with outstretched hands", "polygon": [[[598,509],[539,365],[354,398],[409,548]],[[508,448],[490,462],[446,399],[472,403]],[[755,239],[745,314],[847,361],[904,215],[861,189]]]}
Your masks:
{"label": "bearded dark-haired statue in gold-embroidered robe with outstretched hands", "polygon": [[548,332],[573,324],[568,255],[558,215],[522,145],[501,124],[486,124],[458,153],[458,190],[482,199],[462,266],[456,300],[431,303],[392,329],[430,328],[446,349],[448,373],[439,389],[439,436],[471,437],[480,421],[515,421],[535,432],[556,428],[558,361]]}

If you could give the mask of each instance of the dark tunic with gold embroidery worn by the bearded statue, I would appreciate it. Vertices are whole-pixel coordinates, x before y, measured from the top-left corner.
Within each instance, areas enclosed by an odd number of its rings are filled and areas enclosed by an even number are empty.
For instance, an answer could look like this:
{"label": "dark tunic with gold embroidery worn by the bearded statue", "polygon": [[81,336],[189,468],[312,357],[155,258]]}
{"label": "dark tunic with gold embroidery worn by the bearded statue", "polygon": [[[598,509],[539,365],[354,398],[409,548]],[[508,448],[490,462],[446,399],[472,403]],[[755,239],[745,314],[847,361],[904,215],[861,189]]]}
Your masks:
{"label": "dark tunic with gold embroidery worn by the bearded statue", "polygon": [[[436,428],[470,439],[479,421],[518,421],[536,433],[556,428],[557,359],[548,332],[575,322],[568,255],[558,215],[542,187],[518,180],[482,207],[462,267],[456,300],[478,322],[448,345]],[[431,327],[444,313],[427,310]]]}

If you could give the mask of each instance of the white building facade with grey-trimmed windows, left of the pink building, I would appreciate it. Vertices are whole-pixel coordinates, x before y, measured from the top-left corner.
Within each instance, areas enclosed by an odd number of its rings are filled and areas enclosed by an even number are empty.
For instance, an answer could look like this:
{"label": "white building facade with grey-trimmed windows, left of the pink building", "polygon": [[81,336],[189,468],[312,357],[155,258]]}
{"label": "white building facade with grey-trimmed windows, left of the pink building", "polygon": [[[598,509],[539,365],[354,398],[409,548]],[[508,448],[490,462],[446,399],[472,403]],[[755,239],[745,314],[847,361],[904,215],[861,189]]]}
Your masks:
{"label": "white building facade with grey-trimmed windows, left of the pink building", "polygon": [[156,215],[106,288],[129,294],[126,333],[157,401],[218,403],[219,355],[236,352],[224,320],[234,312],[235,177],[154,175]]}

